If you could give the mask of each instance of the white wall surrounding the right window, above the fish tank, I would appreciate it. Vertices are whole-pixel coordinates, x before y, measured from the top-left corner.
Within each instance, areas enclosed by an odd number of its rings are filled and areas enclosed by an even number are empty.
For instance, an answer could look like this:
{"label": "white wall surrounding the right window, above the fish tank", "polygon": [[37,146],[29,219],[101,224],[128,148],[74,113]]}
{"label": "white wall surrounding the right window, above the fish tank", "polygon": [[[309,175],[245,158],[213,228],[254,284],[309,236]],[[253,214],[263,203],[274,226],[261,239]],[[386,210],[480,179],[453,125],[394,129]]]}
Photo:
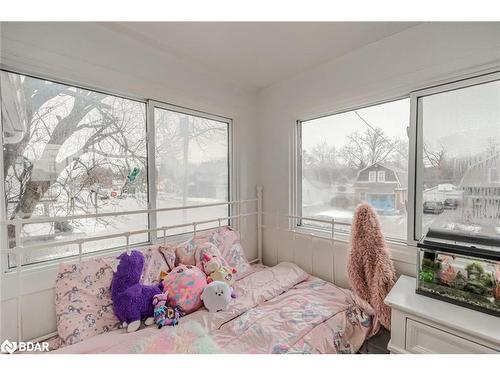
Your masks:
{"label": "white wall surrounding the right window, above the fish tank", "polygon": [[[492,67],[500,67],[499,23],[427,23],[262,90],[258,97],[258,153],[264,211],[285,213],[291,207],[297,120],[398,98]],[[275,261],[276,242],[276,234],[266,229],[264,259],[269,264]],[[347,286],[343,272],[347,246],[337,242],[334,248],[336,282]],[[415,249],[391,248],[398,260],[397,270],[413,274]]]}

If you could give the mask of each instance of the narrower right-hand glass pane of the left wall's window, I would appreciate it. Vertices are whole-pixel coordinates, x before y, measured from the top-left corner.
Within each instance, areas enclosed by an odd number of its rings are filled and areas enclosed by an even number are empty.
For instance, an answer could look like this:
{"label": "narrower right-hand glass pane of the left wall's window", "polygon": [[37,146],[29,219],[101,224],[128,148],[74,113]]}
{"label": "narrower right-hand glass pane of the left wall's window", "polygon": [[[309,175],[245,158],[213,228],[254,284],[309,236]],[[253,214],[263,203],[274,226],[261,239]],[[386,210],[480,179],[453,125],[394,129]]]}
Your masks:
{"label": "narrower right-hand glass pane of the left wall's window", "polygon": [[[228,123],[161,108],[155,108],[154,118],[157,208],[227,201]],[[226,216],[228,207],[223,205],[159,212],[157,220],[158,226],[168,226]],[[214,225],[217,223],[199,228]],[[167,234],[189,230],[192,228],[171,230]]]}

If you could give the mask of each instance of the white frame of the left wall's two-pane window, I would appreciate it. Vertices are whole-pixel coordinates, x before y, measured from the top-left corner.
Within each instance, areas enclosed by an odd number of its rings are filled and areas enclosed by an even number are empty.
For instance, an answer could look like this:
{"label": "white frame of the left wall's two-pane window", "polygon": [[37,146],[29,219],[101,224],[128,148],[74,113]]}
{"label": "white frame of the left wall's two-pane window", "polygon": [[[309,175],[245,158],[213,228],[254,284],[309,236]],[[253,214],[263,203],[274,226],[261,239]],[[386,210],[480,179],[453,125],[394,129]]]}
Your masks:
{"label": "white frame of the left wall's two-pane window", "polygon": [[[35,79],[40,79],[40,80],[47,80],[50,82],[58,83],[61,85],[66,85],[66,86],[71,86],[71,87],[77,87],[85,90],[90,90],[98,93],[102,93],[105,95],[112,95],[128,100],[133,100],[136,102],[140,102],[145,104],[146,106],[146,156],[147,156],[147,183],[148,183],[148,208],[156,208],[156,186],[154,184],[155,178],[156,178],[156,168],[155,168],[155,131],[154,131],[154,108],[162,108],[166,109],[169,111],[174,111],[174,112],[180,112],[183,114],[187,115],[192,115],[192,116],[197,116],[197,117],[203,117],[215,121],[220,121],[228,124],[228,184],[229,184],[229,189],[228,189],[228,201],[231,200],[237,200],[239,199],[239,194],[238,194],[238,186],[236,184],[236,162],[235,162],[235,153],[234,153],[234,131],[233,131],[233,120],[230,117],[224,117],[224,116],[219,116],[219,115],[214,115],[208,112],[200,111],[200,110],[194,110],[182,106],[177,106],[174,104],[168,104],[165,102],[161,101],[156,101],[153,99],[146,99],[146,98],[140,98],[140,97],[135,97],[132,95],[127,95],[123,94],[120,92],[116,92],[113,90],[105,89],[105,88],[99,88],[91,85],[86,85],[82,84],[81,82],[72,82],[69,80],[61,80],[55,77],[51,76],[44,76],[43,74],[38,74],[36,72],[27,72],[27,71],[22,71],[22,70],[17,70],[17,69],[12,69],[12,68],[7,68],[0,64],[0,71],[4,71],[7,73],[13,73],[13,74],[19,74],[23,75],[26,77],[31,77]],[[3,147],[3,126],[1,123],[1,116],[0,116],[0,145]],[[3,152],[3,151],[1,151]],[[4,181],[4,176],[3,176],[3,157],[0,158],[0,220],[7,220],[7,206],[5,202],[5,185],[3,183]],[[153,182],[153,183],[151,183]],[[228,208],[229,215],[231,216],[234,213],[234,207]],[[232,225],[232,223],[230,223]],[[148,228],[154,228],[156,227],[156,217],[155,215],[149,214],[148,215]],[[158,243],[160,240],[156,237],[157,234],[153,231],[150,232],[150,235],[148,239],[145,242],[141,243],[135,243],[135,246],[146,246],[148,244],[155,244]],[[185,237],[185,234],[175,234],[172,236],[168,236],[169,238],[172,238],[174,241],[177,240],[178,238],[183,238]],[[0,248],[6,249],[8,247],[8,240],[7,240],[7,227],[5,225],[0,226]],[[122,251],[123,247],[118,247],[118,248],[110,248],[110,249],[102,249],[102,250],[97,250],[93,251],[92,253],[85,254],[85,256],[99,256],[99,255],[104,255],[104,254],[110,254],[114,253],[116,251]],[[68,261],[70,259],[75,258],[75,256],[67,256],[67,257],[60,257],[56,259],[50,259],[42,262],[36,262],[32,264],[26,264],[23,265],[23,269],[27,270],[34,270],[34,269],[45,269],[46,267],[53,267],[56,264],[59,264],[61,262]],[[9,268],[9,262],[8,262],[8,254],[2,254],[1,255],[1,274],[9,273],[12,271],[12,268]],[[1,277],[1,276],[0,276]]]}

